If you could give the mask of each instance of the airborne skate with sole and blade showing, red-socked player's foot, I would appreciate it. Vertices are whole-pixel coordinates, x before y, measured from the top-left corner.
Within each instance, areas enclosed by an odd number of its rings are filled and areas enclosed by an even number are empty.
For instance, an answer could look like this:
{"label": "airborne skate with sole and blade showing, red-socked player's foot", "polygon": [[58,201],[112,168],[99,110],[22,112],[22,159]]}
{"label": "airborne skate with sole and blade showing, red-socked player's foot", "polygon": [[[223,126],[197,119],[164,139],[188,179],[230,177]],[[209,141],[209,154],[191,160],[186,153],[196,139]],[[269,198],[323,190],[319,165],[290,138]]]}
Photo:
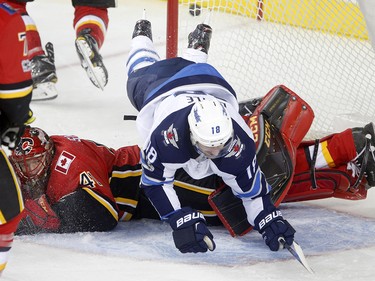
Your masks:
{"label": "airborne skate with sole and blade showing, red-socked player's foot", "polygon": [[90,29],[82,30],[75,45],[81,66],[86,70],[87,76],[96,87],[103,90],[108,82],[108,72],[99,54],[98,43],[90,35],[90,31]]}

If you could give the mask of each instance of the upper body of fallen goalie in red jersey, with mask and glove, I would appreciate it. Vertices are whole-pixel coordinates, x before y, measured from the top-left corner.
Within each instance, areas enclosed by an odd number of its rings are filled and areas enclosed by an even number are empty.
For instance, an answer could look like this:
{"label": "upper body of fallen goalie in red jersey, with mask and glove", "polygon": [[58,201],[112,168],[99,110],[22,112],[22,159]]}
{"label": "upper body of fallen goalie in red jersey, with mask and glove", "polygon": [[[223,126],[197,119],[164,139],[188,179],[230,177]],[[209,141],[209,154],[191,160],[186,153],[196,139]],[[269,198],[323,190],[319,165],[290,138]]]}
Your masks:
{"label": "upper body of fallen goalie in red jersey, with mask and glove", "polygon": [[108,231],[134,213],[134,177],[140,175],[137,146],[114,150],[76,136],[49,137],[39,128],[27,128],[10,159],[29,215],[20,233]]}

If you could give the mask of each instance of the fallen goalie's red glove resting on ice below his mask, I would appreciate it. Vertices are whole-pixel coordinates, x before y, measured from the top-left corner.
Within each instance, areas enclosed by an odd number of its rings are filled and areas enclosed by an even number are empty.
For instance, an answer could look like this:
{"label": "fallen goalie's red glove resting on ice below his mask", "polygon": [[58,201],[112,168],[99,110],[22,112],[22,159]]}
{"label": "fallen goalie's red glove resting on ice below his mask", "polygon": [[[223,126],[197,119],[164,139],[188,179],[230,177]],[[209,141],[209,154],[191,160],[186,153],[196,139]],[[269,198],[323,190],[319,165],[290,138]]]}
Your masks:
{"label": "fallen goalie's red glove resting on ice below his mask", "polygon": [[26,217],[21,220],[16,234],[56,232],[60,227],[60,220],[45,195],[36,200],[26,199],[25,213]]}

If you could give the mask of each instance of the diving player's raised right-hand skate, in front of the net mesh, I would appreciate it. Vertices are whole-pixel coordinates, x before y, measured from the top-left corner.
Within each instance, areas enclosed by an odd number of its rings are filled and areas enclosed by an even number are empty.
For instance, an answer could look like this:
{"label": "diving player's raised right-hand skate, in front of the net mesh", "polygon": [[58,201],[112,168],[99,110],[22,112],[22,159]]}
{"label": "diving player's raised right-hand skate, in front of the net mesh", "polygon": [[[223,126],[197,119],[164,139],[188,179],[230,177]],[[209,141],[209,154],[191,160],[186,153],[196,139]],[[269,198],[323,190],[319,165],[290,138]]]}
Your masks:
{"label": "diving player's raised right-hand skate, in front of the net mesh", "polygon": [[212,28],[204,23],[198,24],[193,32],[188,36],[188,48],[200,50],[208,54],[210,41],[212,36]]}

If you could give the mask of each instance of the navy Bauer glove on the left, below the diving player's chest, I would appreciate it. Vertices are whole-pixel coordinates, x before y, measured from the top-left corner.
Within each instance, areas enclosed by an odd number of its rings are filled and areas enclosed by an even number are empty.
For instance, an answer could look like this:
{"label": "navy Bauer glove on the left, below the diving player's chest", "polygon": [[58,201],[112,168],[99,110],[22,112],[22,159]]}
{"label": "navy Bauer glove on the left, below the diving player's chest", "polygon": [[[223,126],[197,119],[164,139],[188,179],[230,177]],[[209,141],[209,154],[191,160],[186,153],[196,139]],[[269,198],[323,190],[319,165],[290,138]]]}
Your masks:
{"label": "navy Bauer glove on the left, below the diving player's chest", "polygon": [[203,215],[189,207],[176,211],[168,220],[173,229],[173,240],[181,253],[198,253],[215,250],[213,235]]}

